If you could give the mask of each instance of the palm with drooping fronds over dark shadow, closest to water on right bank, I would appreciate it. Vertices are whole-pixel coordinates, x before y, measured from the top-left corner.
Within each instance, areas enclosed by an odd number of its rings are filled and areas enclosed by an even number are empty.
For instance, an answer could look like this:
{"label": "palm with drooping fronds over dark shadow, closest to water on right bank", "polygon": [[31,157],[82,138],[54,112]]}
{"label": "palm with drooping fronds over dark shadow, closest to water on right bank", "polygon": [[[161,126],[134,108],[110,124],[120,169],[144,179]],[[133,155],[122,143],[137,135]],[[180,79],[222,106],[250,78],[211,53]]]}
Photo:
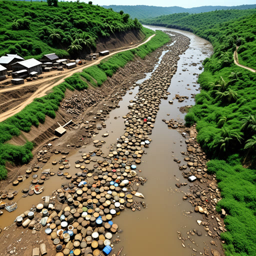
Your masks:
{"label": "palm with drooping fronds over dark shadow, closest to water on right bank", "polygon": [[226,153],[227,150],[232,148],[238,143],[241,144],[242,137],[234,130],[227,130],[222,128],[220,132],[220,139],[216,145],[219,148],[220,153]]}

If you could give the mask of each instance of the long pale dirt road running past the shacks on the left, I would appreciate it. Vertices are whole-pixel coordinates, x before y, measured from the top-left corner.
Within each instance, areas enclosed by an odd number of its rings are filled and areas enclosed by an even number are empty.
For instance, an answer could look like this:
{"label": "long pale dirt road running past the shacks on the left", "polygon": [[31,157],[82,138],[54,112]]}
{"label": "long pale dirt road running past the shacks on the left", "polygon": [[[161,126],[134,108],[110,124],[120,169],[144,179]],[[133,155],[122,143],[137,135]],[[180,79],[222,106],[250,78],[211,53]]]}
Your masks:
{"label": "long pale dirt road running past the shacks on the left", "polygon": [[[155,34],[149,36],[144,42],[136,45],[136,46],[133,46],[133,47],[129,47],[129,48],[126,48],[126,49],[123,49],[123,50],[118,50],[118,51],[114,51],[112,53],[110,53],[109,55],[106,55],[106,56],[103,56],[101,57],[100,59],[92,62],[92,63],[89,63],[89,64],[85,64],[79,68],[76,68],[74,70],[70,70],[70,72],[66,73],[65,75],[59,75],[59,76],[55,76],[54,78],[53,77],[49,77],[47,79],[44,80],[44,82],[46,82],[45,85],[41,86],[37,91],[35,91],[28,99],[26,99],[24,102],[20,103],[19,105],[15,106],[14,108],[0,114],[0,122],[1,121],[4,121],[5,119],[7,119],[8,117],[18,113],[19,111],[21,111],[26,105],[28,105],[29,103],[31,103],[33,101],[34,98],[37,98],[37,97],[42,97],[43,95],[46,94],[46,92],[51,89],[52,87],[60,84],[61,82],[64,82],[64,79],[69,77],[70,75],[72,75],[73,73],[76,73],[76,72],[79,72],[81,70],[83,70],[84,68],[86,67],[89,67],[89,66],[92,66],[92,65],[96,65],[98,64],[102,59],[104,58],[107,58],[113,54],[116,54],[118,52],[121,52],[121,51],[125,51],[125,50],[129,50],[129,49],[134,49],[134,48],[137,48],[139,47],[140,45],[148,42]],[[59,78],[59,79],[57,79]],[[52,79],[55,79],[55,81],[52,82]],[[57,79],[57,81],[56,81]],[[16,88],[15,88],[16,89]],[[5,90],[5,89],[3,89]],[[0,90],[0,92],[3,92],[3,90]],[[7,89],[8,91],[9,89]]]}

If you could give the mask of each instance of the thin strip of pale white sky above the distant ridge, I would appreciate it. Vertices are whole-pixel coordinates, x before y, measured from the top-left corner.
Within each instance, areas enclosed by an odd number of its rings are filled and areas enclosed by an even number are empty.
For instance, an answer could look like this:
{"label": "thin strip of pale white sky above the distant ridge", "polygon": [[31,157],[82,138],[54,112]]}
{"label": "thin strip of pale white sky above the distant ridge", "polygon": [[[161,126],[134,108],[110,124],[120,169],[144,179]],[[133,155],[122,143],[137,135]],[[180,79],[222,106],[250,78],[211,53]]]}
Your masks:
{"label": "thin strip of pale white sky above the distant ridge", "polygon": [[[80,0],[85,1],[86,0]],[[92,0],[92,4],[98,5],[154,5],[154,6],[180,6],[184,8],[198,7],[203,5],[234,6],[242,4],[256,4],[256,0]]]}

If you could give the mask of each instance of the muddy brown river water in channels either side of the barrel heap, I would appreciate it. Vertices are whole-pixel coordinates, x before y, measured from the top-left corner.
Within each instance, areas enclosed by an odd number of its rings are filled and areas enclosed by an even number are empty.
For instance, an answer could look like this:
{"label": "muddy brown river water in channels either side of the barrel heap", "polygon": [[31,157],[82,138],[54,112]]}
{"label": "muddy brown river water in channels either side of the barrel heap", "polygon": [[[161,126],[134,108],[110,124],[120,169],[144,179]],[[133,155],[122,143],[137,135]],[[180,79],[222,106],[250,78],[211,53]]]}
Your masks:
{"label": "muddy brown river water in channels either side of the barrel heap", "polygon": [[[148,26],[149,27],[149,26]],[[151,29],[159,29],[159,27],[152,27]],[[184,138],[179,134],[177,130],[173,130],[167,127],[167,125],[161,121],[161,119],[180,119],[182,120],[184,114],[179,111],[180,106],[190,105],[194,103],[193,98],[186,99],[183,102],[177,102],[174,100],[173,104],[169,104],[168,100],[171,100],[176,93],[180,95],[188,95],[198,92],[198,84],[196,83],[197,76],[193,73],[200,73],[198,69],[201,66],[201,62],[212,53],[211,44],[186,31],[162,28],[163,30],[169,30],[180,32],[190,38],[190,46],[184,54],[180,56],[178,61],[178,69],[176,74],[171,79],[171,84],[168,91],[171,93],[167,100],[162,100],[160,109],[157,113],[156,121],[150,138],[152,142],[149,148],[146,148],[146,154],[142,157],[142,163],[138,166],[142,172],[142,176],[148,178],[144,186],[139,187],[139,192],[145,196],[144,201],[147,204],[146,209],[141,211],[131,212],[131,210],[124,210],[119,216],[115,218],[115,222],[123,230],[120,233],[121,242],[115,245],[116,249],[123,246],[122,255],[139,256],[139,255],[199,255],[198,251],[204,252],[203,247],[205,244],[209,244],[210,237],[206,236],[206,232],[202,226],[198,226],[197,219],[201,219],[201,216],[197,213],[187,214],[189,210],[192,210],[192,206],[188,201],[182,201],[182,191],[188,191],[188,185],[182,188],[176,189],[175,183],[177,180],[185,182],[185,179],[181,175],[181,171],[178,169],[177,164],[173,161],[173,157],[183,159],[180,151],[185,151]],[[175,40],[175,39],[174,39]],[[162,53],[162,55],[164,52]],[[160,60],[160,59],[159,59]],[[187,65],[186,65],[187,63]],[[191,63],[197,63],[196,66],[192,66]],[[156,69],[156,70],[155,70]],[[157,65],[154,71],[157,71]],[[186,71],[182,71],[186,69]],[[150,76],[150,73],[146,74],[146,78]],[[142,80],[137,81],[142,82]],[[187,85],[189,84],[189,86]],[[195,85],[195,87],[193,86]],[[132,94],[129,94],[132,91]],[[112,110],[105,121],[106,128],[99,131],[99,134],[95,136],[95,139],[103,139],[106,141],[102,146],[104,153],[108,152],[108,148],[111,143],[116,142],[117,138],[123,134],[124,122],[122,116],[125,115],[129,109],[127,105],[129,100],[134,98],[138,91],[138,86],[134,89],[127,91],[123,99],[119,102],[120,107]],[[167,116],[167,113],[170,115]],[[117,118],[114,118],[117,117]],[[102,138],[103,133],[109,133],[109,136]],[[70,168],[67,169],[71,174],[78,171],[74,168],[74,161],[80,158],[81,153],[94,150],[93,145],[88,145],[83,148],[79,148],[77,152],[72,155],[68,155]],[[52,171],[57,172],[57,165],[52,165],[51,161],[59,160],[61,155],[53,155],[50,160],[43,166],[43,169],[50,168]],[[94,157],[96,158],[96,156]],[[97,157],[97,159],[99,159]],[[182,162],[181,162],[182,163]],[[40,170],[38,171],[40,172]],[[31,178],[23,181],[16,189],[21,190],[24,187],[30,185]],[[44,183],[44,191],[40,195],[32,195],[30,197],[22,198],[21,193],[16,195],[18,208],[11,212],[4,212],[0,216],[0,227],[9,225],[17,215],[23,211],[29,209],[32,204],[39,202],[43,195],[51,194],[52,190],[58,188],[61,183],[66,183],[66,179],[62,179],[60,176],[51,176],[49,180]],[[192,229],[201,230],[203,235],[193,235],[190,238],[195,240],[192,243],[187,239],[184,244],[185,248],[181,245],[181,240],[177,238],[177,232],[187,237],[186,232]],[[196,236],[196,237],[195,237]],[[192,251],[191,248],[195,248],[197,252]],[[207,247],[207,246],[206,246]]]}

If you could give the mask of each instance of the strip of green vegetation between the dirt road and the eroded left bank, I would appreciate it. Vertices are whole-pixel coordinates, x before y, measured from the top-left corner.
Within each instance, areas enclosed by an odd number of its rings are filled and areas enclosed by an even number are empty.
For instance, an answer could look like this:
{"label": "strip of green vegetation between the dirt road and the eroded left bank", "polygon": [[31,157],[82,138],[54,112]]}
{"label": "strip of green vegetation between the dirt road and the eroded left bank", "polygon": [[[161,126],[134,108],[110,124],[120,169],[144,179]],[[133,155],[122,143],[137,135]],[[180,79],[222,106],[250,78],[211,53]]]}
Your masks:
{"label": "strip of green vegetation between the dirt road and the eroded left bank", "polygon": [[[144,28],[144,33],[148,37],[153,32]],[[156,31],[156,35],[147,43],[131,50],[119,52],[107,59],[102,60],[98,65],[84,68],[82,72],[74,73],[65,79],[65,82],[52,88],[52,91],[40,98],[35,98],[19,113],[0,122],[0,179],[7,176],[5,162],[15,164],[27,163],[31,157],[32,143],[27,142],[23,146],[14,146],[6,143],[12,136],[18,136],[20,131],[28,132],[31,126],[38,126],[43,123],[45,115],[55,117],[60,101],[64,98],[66,89],[81,90],[88,87],[88,83],[100,86],[109,76],[112,76],[119,67],[123,67],[135,56],[144,58],[148,53],[162,46],[169,41],[169,36],[161,31]]]}

